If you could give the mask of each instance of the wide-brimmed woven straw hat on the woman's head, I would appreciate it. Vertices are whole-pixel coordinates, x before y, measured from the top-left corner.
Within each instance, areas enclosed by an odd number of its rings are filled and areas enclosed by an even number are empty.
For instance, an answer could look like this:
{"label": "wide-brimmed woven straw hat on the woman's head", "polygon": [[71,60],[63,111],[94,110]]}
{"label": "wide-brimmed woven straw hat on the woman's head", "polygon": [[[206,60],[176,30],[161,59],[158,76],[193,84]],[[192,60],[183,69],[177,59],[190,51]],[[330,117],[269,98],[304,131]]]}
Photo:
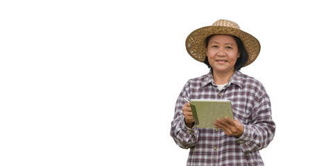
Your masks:
{"label": "wide-brimmed woven straw hat on the woman's head", "polygon": [[232,35],[241,39],[248,53],[248,62],[245,66],[254,62],[259,55],[259,41],[253,35],[241,30],[238,24],[226,19],[219,19],[212,26],[198,28],[190,33],[185,42],[187,53],[197,61],[204,62],[206,57],[205,39],[214,34]]}

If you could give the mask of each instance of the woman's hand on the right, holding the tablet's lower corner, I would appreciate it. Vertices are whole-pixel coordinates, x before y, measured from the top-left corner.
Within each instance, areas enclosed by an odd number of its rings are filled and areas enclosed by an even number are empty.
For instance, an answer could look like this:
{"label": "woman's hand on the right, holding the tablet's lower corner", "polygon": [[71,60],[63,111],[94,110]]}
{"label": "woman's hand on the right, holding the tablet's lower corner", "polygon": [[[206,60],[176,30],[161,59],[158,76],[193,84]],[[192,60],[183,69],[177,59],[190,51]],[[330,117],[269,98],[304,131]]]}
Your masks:
{"label": "woman's hand on the right, holding the tablet's lower corner", "polygon": [[225,117],[224,120],[217,118],[215,127],[223,130],[228,136],[240,137],[243,134],[244,126],[238,120]]}

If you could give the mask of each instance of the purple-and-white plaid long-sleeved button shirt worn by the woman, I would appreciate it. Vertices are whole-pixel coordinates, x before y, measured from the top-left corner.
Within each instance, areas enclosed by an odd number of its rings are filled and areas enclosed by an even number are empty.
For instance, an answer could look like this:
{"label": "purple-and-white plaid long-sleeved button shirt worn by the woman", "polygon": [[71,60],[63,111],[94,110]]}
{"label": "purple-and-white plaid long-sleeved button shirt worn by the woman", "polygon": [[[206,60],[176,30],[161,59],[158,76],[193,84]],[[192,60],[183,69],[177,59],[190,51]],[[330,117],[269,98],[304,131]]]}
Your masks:
{"label": "purple-and-white plaid long-sleeved button shirt worn by the woman", "polygon": [[[244,124],[244,133],[235,138],[220,129],[191,129],[185,125],[182,107],[187,99],[230,100],[234,118]],[[212,73],[191,79],[178,100],[171,136],[178,146],[188,149],[187,165],[264,165],[259,150],[273,140],[275,123],[271,102],[264,86],[253,77],[235,71],[228,84],[219,91]]]}

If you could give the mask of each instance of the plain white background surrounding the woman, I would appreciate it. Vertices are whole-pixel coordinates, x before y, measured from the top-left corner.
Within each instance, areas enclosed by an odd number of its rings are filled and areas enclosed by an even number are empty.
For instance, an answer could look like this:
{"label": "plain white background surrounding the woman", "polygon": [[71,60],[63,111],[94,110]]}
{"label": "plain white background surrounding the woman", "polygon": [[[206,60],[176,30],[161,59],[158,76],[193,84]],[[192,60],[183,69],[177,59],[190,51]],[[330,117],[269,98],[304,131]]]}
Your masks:
{"label": "plain white background surrounding the woman", "polygon": [[333,165],[329,1],[1,1],[0,165],[185,165],[169,136],[207,66],[192,30],[237,22],[262,45],[241,72],[271,97],[266,165]]}

